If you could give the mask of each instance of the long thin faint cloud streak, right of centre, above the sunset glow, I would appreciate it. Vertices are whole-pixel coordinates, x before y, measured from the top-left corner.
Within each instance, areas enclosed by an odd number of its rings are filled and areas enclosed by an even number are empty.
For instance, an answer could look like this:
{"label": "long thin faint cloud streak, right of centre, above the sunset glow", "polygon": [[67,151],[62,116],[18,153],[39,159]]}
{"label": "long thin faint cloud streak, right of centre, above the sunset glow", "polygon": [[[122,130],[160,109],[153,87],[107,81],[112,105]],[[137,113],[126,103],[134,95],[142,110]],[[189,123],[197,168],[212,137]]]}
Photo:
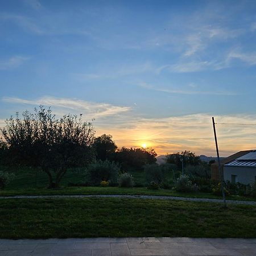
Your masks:
{"label": "long thin faint cloud streak, right of centre, above the sunset glow", "polygon": [[[182,90],[182,89],[169,89],[169,88],[163,88],[160,86],[153,86],[151,84],[147,84],[146,82],[141,82],[138,84],[142,88],[146,88],[149,90],[156,90],[158,92],[166,92],[166,93],[171,93],[171,94],[189,94],[189,95],[223,95],[223,96],[234,96],[237,95],[234,92],[225,92],[225,91],[204,91],[204,90]],[[190,88],[196,88],[195,84],[189,84],[188,85]]]}

